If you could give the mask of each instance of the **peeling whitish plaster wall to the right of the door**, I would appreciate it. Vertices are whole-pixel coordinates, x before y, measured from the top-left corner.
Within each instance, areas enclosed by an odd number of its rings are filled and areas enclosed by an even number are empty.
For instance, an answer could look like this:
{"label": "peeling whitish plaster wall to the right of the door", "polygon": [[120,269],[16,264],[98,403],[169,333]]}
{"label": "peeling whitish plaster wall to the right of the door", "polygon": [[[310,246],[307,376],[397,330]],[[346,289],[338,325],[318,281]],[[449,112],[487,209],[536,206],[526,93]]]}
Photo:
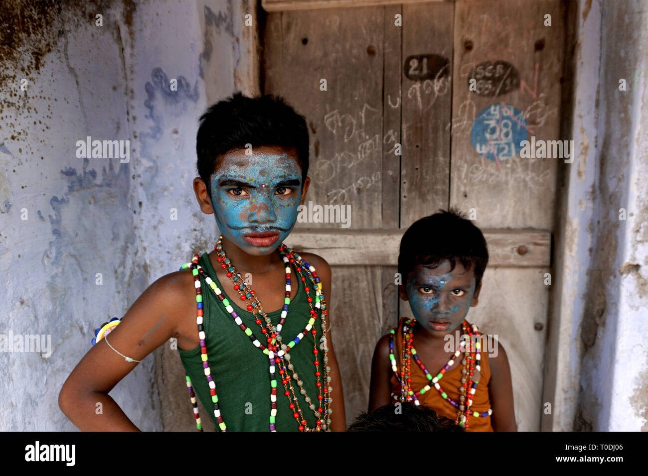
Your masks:
{"label": "peeling whitish plaster wall to the right of the door", "polygon": [[638,338],[648,333],[648,5],[606,1],[601,27],[595,265],[579,405],[586,428],[648,431],[648,348]]}

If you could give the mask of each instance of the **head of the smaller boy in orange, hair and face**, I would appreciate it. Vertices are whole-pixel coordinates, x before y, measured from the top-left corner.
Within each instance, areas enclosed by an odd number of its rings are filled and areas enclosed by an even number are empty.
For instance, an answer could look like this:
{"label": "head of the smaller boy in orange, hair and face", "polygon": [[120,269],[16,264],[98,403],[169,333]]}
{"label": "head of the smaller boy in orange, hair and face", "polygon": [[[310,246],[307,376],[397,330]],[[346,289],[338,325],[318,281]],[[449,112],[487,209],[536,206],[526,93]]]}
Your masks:
{"label": "head of the smaller boy in orange, hair and face", "polygon": [[443,337],[476,306],[488,264],[486,240],[457,210],[416,221],[400,240],[400,298],[422,328]]}

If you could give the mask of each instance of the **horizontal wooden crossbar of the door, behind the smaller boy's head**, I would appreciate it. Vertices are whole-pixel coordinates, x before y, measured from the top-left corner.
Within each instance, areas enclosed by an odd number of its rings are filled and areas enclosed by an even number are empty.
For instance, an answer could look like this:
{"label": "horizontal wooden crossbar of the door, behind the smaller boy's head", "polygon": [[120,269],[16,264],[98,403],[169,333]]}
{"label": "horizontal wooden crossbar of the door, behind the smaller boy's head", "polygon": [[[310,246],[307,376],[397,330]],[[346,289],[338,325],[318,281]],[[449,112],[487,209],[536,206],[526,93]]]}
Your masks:
{"label": "horizontal wooden crossbar of the door, behind the smaller boy's head", "polygon": [[[316,253],[333,265],[384,265],[398,263],[397,230],[299,229],[286,239],[297,251]],[[482,230],[489,247],[489,266],[550,266],[551,234],[542,230]]]}

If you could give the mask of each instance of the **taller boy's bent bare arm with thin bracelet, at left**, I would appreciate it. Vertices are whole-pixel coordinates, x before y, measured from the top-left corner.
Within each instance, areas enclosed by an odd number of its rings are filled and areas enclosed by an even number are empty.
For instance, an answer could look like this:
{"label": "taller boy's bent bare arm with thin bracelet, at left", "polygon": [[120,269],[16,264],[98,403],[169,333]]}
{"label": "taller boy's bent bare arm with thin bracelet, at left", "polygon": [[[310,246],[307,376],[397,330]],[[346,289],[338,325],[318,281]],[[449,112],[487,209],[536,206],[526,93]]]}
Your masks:
{"label": "taller boy's bent bare arm with thin bracelet, at left", "polygon": [[[189,309],[187,306],[195,306],[195,293],[187,292],[188,286],[193,287],[192,281],[191,273],[181,271],[159,278],[110,332],[110,345],[124,356],[142,360],[170,337],[179,337],[183,312]],[[65,381],[58,396],[59,407],[82,431],[138,431],[108,395],[136,365],[102,339]]]}

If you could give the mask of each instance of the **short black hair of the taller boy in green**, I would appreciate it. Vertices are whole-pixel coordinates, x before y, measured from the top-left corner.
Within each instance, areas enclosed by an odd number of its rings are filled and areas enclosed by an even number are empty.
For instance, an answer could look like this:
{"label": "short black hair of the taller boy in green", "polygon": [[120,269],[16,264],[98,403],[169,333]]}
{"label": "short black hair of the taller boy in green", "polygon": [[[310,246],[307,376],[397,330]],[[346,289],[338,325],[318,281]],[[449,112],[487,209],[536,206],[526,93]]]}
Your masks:
{"label": "short black hair of the taller boy in green", "polygon": [[198,175],[207,185],[219,166],[222,155],[232,150],[252,147],[281,146],[295,148],[301,166],[301,183],[308,175],[308,128],[282,96],[247,97],[235,93],[210,106],[200,117],[196,137]]}

